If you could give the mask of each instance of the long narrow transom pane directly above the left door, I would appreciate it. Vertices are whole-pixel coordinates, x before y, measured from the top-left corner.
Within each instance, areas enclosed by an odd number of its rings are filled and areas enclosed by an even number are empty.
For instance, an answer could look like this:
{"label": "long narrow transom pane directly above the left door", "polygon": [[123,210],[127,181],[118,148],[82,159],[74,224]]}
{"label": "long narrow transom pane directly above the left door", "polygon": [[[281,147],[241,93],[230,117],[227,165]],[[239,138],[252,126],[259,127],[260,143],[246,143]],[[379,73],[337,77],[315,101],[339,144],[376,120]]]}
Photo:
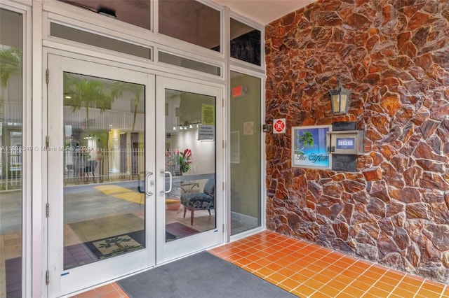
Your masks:
{"label": "long narrow transom pane directly above the left door", "polygon": [[116,52],[123,52],[125,54],[138,56],[146,59],[151,59],[152,50],[141,47],[140,45],[133,45],[124,41],[117,41],[113,38],[107,38],[98,34],[74,29],[61,24],[51,23],[51,36],[65,38],[69,41],[76,41],[78,43],[86,43],[86,45],[95,45],[99,48],[107,50],[114,50]]}

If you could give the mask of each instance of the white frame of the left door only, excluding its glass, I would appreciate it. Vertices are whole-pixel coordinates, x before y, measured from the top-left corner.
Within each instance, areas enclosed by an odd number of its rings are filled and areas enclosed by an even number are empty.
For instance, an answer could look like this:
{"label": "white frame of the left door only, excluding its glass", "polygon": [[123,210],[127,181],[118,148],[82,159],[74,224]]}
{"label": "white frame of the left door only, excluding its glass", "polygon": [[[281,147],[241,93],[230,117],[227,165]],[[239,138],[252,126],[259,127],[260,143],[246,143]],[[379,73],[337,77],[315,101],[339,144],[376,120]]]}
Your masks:
{"label": "white frame of the left door only, excluding its glass", "polygon": [[[63,105],[62,101],[62,73],[64,71],[81,73],[88,76],[121,80],[130,83],[145,85],[145,129],[154,127],[154,75],[139,73],[128,69],[108,66],[105,64],[86,62],[81,59],[72,59],[58,55],[48,55],[48,69],[51,81],[48,85],[48,297],[59,297],[81,288],[88,288],[119,278],[155,264],[154,225],[151,220],[145,221],[146,248],[112,257],[100,262],[86,264],[71,270],[63,269],[63,175],[62,151],[59,150],[63,142]],[[154,129],[145,131],[145,168],[154,172]],[[148,185],[149,192],[155,192],[154,185]],[[60,199],[56,199],[60,198]],[[154,196],[146,196],[145,213],[147,218],[154,218]]]}

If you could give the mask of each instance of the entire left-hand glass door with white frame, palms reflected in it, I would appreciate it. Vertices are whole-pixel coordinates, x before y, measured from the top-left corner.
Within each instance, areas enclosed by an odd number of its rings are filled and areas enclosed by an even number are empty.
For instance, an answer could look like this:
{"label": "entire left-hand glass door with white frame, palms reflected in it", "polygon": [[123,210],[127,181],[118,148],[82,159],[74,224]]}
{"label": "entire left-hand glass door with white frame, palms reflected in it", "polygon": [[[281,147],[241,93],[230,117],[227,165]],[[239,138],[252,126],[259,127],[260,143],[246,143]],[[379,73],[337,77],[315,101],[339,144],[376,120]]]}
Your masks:
{"label": "entire left-hand glass door with white frame, palms reflected in it", "polygon": [[155,264],[154,76],[56,55],[48,69],[46,274],[59,297]]}

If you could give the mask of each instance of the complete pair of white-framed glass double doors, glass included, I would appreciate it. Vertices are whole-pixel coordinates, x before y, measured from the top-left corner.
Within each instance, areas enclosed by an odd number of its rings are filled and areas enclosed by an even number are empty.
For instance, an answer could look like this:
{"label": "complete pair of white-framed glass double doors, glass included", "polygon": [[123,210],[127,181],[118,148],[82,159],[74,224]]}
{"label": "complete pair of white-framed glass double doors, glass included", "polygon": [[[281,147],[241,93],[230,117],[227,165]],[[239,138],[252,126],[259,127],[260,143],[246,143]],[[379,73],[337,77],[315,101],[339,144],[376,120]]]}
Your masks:
{"label": "complete pair of white-framed glass double doors, glass included", "polygon": [[222,243],[222,87],[59,55],[48,72],[48,297]]}

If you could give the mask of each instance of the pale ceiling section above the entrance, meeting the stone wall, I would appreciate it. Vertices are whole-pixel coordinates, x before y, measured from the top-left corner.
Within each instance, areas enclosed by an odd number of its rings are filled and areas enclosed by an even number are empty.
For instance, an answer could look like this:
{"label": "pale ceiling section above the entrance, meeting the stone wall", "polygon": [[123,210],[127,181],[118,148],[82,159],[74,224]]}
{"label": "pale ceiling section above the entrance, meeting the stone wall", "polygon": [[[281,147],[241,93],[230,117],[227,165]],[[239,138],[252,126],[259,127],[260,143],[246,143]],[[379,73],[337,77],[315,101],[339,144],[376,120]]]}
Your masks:
{"label": "pale ceiling section above the entrance, meeting the stone wall", "polygon": [[212,0],[260,24],[279,19],[315,0]]}

